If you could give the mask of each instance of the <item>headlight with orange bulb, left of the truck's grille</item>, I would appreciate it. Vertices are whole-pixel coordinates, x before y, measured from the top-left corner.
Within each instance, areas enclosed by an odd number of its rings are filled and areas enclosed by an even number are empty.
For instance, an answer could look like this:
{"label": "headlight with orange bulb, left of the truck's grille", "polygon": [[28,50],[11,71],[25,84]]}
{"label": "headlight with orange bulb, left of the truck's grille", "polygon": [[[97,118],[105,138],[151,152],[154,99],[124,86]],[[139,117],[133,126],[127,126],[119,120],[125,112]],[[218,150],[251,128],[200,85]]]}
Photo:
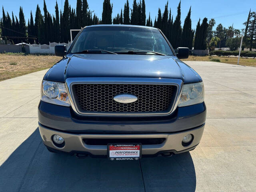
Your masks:
{"label": "headlight with orange bulb, left of the truck's grille", "polygon": [[64,83],[43,80],[41,100],[56,105],[70,106]]}

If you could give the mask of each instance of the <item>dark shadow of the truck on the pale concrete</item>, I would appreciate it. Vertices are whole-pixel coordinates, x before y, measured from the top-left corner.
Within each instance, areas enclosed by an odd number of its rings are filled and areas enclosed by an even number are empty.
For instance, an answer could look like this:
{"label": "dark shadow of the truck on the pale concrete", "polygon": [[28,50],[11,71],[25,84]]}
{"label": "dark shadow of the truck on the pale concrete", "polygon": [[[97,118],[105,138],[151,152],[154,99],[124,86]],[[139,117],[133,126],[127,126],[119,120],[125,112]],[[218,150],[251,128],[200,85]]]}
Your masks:
{"label": "dark shadow of the truck on the pale concrete", "polygon": [[144,192],[144,186],[147,192],[195,191],[190,153],[140,162],[78,159],[48,152],[37,128],[0,166],[1,192]]}

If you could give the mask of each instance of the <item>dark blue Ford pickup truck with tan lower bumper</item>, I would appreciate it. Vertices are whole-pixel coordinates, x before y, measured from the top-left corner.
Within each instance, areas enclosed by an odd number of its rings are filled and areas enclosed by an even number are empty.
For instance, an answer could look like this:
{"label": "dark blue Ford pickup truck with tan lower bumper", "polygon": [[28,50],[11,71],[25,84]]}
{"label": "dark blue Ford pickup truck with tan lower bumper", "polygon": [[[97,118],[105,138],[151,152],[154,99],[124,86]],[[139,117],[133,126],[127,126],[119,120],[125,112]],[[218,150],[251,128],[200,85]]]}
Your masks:
{"label": "dark blue Ford pickup truck with tan lower bumper", "polygon": [[196,148],[204,131],[202,78],[157,28],[86,26],[46,72],[38,124],[50,152],[138,160]]}

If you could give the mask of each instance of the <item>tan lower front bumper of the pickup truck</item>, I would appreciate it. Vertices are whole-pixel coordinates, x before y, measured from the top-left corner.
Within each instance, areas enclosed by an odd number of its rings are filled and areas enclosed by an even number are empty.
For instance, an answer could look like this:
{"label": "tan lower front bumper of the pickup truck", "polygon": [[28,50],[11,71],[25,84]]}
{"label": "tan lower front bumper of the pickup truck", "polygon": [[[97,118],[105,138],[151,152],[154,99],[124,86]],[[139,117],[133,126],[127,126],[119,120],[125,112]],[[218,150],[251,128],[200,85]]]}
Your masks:
{"label": "tan lower front bumper of the pickup truck", "polygon": [[[44,144],[52,149],[59,150],[62,152],[67,152],[70,154],[90,154],[92,156],[106,156],[107,146],[106,145],[87,145],[84,143],[83,139],[88,138],[165,138],[166,140],[162,144],[155,145],[142,145],[142,155],[153,155],[159,153],[172,152],[178,154],[180,152],[186,152],[193,149],[199,144],[202,134],[204,132],[204,124],[197,128],[178,132],[178,133],[165,133],[165,134],[72,134],[62,131],[52,130],[46,128],[39,123],[39,130]],[[52,142],[52,135],[58,134],[64,138],[65,146],[58,148]],[[192,143],[188,146],[182,146],[182,138],[186,134],[192,134],[194,136]]]}

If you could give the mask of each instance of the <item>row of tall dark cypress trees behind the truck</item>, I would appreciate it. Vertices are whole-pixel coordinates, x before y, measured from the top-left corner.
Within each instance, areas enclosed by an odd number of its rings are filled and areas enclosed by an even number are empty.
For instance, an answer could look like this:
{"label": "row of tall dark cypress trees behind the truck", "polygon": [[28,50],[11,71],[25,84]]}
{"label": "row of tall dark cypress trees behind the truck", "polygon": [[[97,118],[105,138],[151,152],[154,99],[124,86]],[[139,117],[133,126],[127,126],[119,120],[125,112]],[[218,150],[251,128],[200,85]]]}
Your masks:
{"label": "row of tall dark cypress trees behind the truck", "polygon": [[[89,9],[87,0],[77,0],[76,9],[71,8],[68,0],[64,2],[64,9],[59,10],[56,1],[55,14],[50,14],[47,10],[44,0],[43,11],[37,5],[35,19],[30,12],[30,19],[26,24],[22,7],[20,7],[19,19],[12,13],[12,18],[9,13],[5,14],[4,7],[2,8],[3,17],[0,21],[2,36],[18,36],[36,38],[36,42],[40,44],[48,44],[49,42],[68,42],[70,41],[70,29],[80,29],[84,26],[97,24],[131,24],[142,26],[154,26],[162,30],[166,38],[170,41],[174,48],[178,46],[188,47],[192,49],[213,49],[215,47],[231,47],[235,44],[231,40],[234,34],[240,34],[240,30],[234,29],[233,26],[225,28],[222,24],[218,24],[215,31],[212,30],[216,24],[214,19],[208,21],[203,18],[202,22],[199,19],[196,30],[191,27],[191,7],[181,26],[181,2],[177,7],[176,18],[173,18],[171,8],[168,10],[168,1],[162,13],[158,8],[158,15],[154,22],[150,17],[146,18],[146,5],[144,0],[133,1],[130,8],[128,0],[124,4],[124,8],[120,10],[116,16],[112,18],[113,4],[110,0],[104,0],[102,6],[102,18],[98,18],[94,11]],[[250,12],[248,21],[244,23],[246,28],[243,30],[245,36],[244,46],[250,46],[250,49],[255,46],[256,37],[256,22],[255,12]],[[16,40],[18,41],[18,40]],[[28,42],[33,43],[33,39]]]}

